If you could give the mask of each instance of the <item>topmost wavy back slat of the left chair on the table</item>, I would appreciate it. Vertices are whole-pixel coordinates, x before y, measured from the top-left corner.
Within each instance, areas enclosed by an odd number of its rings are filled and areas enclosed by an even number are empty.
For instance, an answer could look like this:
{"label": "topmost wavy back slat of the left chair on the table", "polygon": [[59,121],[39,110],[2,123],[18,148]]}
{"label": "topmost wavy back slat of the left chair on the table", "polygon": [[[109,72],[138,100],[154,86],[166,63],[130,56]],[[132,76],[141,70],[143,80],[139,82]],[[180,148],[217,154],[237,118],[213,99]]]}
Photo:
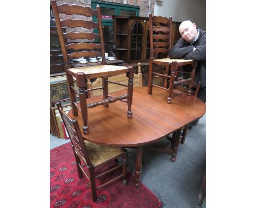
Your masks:
{"label": "topmost wavy back slat of the left chair on the table", "polygon": [[66,15],[78,14],[84,16],[97,16],[97,11],[95,9],[91,9],[90,7],[82,7],[79,5],[68,5],[61,4],[58,6],[59,13],[65,13]]}

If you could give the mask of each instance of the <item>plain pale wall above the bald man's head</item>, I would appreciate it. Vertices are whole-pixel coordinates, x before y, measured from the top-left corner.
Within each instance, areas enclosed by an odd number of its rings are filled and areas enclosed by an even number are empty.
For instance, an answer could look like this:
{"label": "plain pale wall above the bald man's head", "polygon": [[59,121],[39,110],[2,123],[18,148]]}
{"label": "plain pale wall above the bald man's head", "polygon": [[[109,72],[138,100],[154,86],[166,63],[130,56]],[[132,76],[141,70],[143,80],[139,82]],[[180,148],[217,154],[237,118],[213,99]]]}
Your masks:
{"label": "plain pale wall above the bald man's head", "polygon": [[206,0],[162,0],[155,1],[154,15],[169,17],[172,21],[191,20],[206,30]]}

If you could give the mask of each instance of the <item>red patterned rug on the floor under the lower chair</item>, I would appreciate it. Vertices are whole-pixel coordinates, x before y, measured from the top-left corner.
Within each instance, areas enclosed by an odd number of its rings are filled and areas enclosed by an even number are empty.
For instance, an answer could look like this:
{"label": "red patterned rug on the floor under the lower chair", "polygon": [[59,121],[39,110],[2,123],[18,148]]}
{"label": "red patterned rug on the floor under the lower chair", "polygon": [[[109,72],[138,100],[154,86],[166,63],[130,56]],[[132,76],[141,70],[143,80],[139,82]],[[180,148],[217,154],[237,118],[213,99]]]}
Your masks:
{"label": "red patterned rug on the floor under the lower chair", "polygon": [[[114,166],[115,162],[108,167]],[[116,170],[96,179],[97,186],[120,174]],[[101,169],[102,171],[102,169]],[[135,188],[135,180],[128,173],[128,185],[121,179],[98,189],[97,201],[91,201],[89,181],[79,179],[71,143],[50,150],[50,207],[95,208],[95,207],[162,207],[158,198],[142,183]]]}

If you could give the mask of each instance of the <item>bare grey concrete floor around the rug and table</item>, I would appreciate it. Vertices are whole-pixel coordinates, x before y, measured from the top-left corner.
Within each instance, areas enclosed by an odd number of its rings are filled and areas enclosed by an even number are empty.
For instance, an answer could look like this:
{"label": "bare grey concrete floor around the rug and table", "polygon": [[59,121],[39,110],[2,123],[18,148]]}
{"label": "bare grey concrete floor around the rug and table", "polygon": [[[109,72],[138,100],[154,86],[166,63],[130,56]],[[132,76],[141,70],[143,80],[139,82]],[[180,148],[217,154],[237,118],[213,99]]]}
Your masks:
{"label": "bare grey concrete floor around the rug and table", "polygon": [[[50,148],[69,142],[50,134]],[[161,146],[170,146],[167,139]],[[135,149],[128,149],[128,169],[135,172]],[[197,204],[203,174],[206,170],[206,115],[187,134],[184,144],[179,144],[176,162],[164,152],[143,150],[141,181],[167,208],[193,208]],[[206,207],[206,198],[202,208]]]}

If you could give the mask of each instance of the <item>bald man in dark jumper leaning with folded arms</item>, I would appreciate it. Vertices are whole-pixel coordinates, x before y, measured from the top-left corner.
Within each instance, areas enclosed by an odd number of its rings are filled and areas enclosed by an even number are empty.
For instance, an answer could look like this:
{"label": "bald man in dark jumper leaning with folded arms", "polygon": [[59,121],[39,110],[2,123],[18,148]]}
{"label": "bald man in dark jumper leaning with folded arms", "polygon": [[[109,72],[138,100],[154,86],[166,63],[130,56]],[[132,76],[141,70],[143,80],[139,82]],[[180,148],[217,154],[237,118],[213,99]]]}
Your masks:
{"label": "bald man in dark jumper leaning with folded arms", "polygon": [[[186,20],[179,26],[180,38],[169,53],[170,58],[184,58],[197,61],[195,82],[201,82],[197,97],[206,102],[206,32],[195,23]],[[187,71],[191,66],[183,66]]]}

